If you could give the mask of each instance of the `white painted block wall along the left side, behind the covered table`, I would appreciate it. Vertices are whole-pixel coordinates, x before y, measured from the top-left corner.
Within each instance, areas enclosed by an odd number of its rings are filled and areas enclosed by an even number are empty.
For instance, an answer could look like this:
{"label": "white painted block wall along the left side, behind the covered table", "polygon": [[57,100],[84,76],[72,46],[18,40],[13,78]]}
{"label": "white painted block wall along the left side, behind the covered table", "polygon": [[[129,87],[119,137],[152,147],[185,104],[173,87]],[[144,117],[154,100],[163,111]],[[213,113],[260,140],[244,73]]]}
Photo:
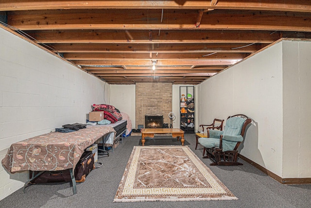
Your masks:
{"label": "white painted block wall along the left side, behind the covered table", "polygon": [[[103,81],[0,28],[0,160],[12,143],[85,123],[91,105],[103,102]],[[0,200],[27,177],[1,165]]]}

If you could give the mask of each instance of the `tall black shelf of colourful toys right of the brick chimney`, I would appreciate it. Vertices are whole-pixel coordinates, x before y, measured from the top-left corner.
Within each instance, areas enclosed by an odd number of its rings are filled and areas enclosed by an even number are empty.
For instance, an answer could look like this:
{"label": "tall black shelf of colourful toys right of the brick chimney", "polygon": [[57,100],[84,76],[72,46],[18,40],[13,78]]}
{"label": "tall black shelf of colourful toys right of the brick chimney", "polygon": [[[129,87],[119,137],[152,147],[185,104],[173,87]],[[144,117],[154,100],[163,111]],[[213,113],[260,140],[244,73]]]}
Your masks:
{"label": "tall black shelf of colourful toys right of the brick chimney", "polygon": [[180,86],[180,129],[194,133],[194,87]]}

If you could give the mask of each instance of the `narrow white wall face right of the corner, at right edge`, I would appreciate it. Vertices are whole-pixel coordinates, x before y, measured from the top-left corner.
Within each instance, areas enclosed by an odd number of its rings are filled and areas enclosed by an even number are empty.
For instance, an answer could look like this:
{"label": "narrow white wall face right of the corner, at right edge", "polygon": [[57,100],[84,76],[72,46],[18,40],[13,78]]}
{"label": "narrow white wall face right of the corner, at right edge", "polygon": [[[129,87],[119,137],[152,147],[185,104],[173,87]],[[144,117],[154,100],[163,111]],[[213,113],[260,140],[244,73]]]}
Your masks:
{"label": "narrow white wall face right of the corner, at right edge", "polygon": [[311,42],[283,41],[283,178],[311,177]]}

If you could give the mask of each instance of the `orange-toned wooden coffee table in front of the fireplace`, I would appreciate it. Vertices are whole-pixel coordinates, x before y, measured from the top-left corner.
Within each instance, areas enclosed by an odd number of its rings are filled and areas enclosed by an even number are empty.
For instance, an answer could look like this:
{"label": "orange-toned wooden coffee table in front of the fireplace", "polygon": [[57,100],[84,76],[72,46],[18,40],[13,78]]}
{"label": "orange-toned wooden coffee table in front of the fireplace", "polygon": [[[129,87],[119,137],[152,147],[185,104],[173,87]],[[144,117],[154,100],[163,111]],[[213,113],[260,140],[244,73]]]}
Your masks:
{"label": "orange-toned wooden coffee table in front of the fireplace", "polygon": [[154,138],[155,137],[155,133],[158,134],[162,134],[162,133],[172,133],[172,137],[177,137],[177,141],[180,138],[181,144],[182,146],[184,146],[184,131],[182,131],[181,129],[141,129],[141,144],[142,146],[145,145],[145,137],[151,137]]}

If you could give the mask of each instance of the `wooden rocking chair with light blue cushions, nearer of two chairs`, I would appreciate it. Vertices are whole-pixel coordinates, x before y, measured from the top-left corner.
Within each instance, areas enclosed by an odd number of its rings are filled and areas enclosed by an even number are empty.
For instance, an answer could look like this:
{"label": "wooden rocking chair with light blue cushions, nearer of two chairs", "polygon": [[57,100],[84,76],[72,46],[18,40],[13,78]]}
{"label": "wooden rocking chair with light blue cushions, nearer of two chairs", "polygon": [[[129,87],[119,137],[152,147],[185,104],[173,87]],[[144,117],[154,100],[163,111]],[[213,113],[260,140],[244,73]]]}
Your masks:
{"label": "wooden rocking chair with light blue cushions, nearer of two chairs", "polygon": [[246,115],[237,114],[227,118],[224,131],[208,129],[207,137],[198,139],[204,147],[203,158],[210,158],[213,161],[210,165],[243,165],[237,162],[237,149],[251,121]]}

